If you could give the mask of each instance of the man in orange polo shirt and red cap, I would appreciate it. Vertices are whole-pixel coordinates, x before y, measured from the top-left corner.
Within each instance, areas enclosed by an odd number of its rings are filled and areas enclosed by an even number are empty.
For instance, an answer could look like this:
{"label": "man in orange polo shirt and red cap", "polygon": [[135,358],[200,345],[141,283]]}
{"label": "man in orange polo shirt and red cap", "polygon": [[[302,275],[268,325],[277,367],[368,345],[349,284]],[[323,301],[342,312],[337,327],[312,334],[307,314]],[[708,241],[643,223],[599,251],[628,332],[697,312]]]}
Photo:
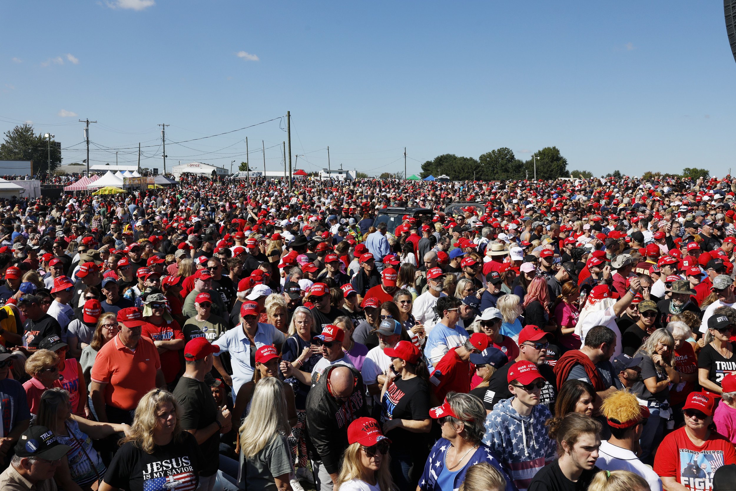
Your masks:
{"label": "man in orange polo shirt and red cap", "polygon": [[166,387],[158,350],[141,338],[143,319],[138,307],[118,311],[120,332],[97,353],[90,378],[90,396],[102,423],[132,424],[138,401],[155,387]]}

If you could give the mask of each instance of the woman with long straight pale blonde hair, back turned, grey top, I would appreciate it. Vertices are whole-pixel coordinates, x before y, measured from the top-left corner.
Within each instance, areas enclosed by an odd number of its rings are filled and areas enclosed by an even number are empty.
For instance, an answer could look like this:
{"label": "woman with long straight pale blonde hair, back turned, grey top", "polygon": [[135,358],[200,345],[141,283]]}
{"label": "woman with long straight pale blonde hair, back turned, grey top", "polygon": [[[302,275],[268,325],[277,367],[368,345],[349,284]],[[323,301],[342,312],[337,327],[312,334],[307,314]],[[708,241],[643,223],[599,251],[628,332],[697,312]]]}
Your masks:
{"label": "woman with long straight pale blonde hair, back turned, grey top", "polygon": [[291,491],[294,468],[286,437],[290,434],[283,382],[261,378],[255,384],[251,409],[239,429],[241,476],[238,484],[257,490]]}

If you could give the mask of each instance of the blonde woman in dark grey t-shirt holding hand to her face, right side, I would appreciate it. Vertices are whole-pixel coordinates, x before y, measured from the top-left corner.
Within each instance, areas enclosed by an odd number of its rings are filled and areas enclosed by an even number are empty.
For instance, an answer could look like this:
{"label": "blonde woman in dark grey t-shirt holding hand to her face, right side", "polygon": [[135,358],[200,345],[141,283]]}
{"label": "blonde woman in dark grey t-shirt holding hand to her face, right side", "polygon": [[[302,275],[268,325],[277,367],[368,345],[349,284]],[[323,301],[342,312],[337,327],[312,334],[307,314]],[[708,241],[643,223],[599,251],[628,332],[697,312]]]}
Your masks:
{"label": "blonde woman in dark grey t-shirt holding hand to her face, right side", "polygon": [[675,340],[665,328],[659,328],[634,353],[641,358],[641,380],[631,387],[637,398],[647,401],[649,419],[640,439],[640,459],[645,464],[654,462],[654,449],[665,437],[665,423],[670,419],[670,385],[680,382],[675,370]]}

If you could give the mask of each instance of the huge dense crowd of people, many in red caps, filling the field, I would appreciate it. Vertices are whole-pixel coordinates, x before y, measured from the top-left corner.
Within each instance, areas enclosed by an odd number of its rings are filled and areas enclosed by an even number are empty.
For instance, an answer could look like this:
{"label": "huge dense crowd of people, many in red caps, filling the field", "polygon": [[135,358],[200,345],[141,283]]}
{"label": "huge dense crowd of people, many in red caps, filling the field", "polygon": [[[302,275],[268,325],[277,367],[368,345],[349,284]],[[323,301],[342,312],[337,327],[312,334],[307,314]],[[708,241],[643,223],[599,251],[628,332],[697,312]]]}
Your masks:
{"label": "huge dense crowd of people, many in red caps, filling the field", "polygon": [[0,489],[734,490],[733,188],[4,199]]}

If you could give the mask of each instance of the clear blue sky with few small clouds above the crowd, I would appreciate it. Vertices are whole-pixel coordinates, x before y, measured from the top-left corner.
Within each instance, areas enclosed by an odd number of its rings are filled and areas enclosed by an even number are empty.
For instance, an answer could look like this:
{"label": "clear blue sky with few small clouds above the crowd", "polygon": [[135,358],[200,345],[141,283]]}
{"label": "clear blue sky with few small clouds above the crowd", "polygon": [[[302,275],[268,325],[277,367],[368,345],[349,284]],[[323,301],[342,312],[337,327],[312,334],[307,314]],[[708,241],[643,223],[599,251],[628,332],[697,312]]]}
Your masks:
{"label": "clear blue sky with few small clouds above the crowd", "polygon": [[[297,167],[408,173],[442,153],[557,146],[603,174],[736,169],[736,63],[718,2],[5,1],[0,130],[93,163],[291,110]],[[166,145],[171,163],[281,162],[283,120]],[[227,148],[225,148],[227,147]],[[130,153],[133,152],[133,153]],[[303,155],[303,156],[302,156]],[[63,152],[64,163],[84,152]],[[293,161],[293,160],[292,160]]]}

